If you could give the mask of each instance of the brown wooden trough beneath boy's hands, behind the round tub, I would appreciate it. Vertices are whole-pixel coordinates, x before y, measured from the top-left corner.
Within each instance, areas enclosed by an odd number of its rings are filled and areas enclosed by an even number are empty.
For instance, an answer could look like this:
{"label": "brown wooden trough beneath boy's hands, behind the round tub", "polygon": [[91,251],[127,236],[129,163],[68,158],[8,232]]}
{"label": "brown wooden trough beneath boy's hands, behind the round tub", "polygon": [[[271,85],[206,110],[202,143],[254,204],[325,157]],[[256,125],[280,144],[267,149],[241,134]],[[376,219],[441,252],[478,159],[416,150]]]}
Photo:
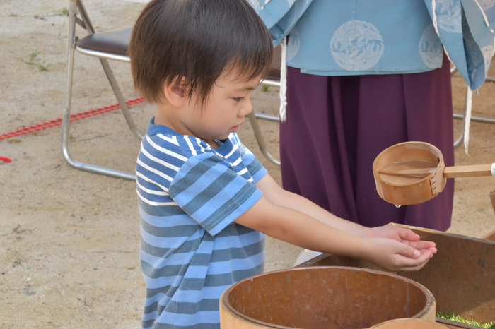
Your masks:
{"label": "brown wooden trough beneath boy's hands, behind the round tub", "polygon": [[[494,240],[409,225],[397,226],[412,229],[421,239],[434,241],[438,248],[438,253],[421,270],[397,274],[428,288],[435,297],[438,312],[455,313],[480,323],[495,320],[495,238],[491,234]],[[301,266],[351,266],[380,270],[357,258],[326,253]],[[456,328],[472,327],[458,323]]]}

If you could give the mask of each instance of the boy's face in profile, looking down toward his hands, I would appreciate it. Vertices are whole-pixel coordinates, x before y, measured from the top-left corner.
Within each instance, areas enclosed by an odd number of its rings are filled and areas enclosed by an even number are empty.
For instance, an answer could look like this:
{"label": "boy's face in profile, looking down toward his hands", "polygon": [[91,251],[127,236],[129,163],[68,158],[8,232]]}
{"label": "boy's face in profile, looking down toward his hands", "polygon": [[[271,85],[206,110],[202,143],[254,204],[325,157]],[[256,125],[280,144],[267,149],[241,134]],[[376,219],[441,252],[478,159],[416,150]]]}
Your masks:
{"label": "boy's face in profile, looking down toward his hands", "polygon": [[197,93],[193,93],[187,109],[181,114],[182,124],[190,132],[216,146],[214,140],[223,140],[236,132],[251,110],[250,95],[260,84],[261,76],[247,80],[238,70],[227,70],[216,80],[203,108]]}

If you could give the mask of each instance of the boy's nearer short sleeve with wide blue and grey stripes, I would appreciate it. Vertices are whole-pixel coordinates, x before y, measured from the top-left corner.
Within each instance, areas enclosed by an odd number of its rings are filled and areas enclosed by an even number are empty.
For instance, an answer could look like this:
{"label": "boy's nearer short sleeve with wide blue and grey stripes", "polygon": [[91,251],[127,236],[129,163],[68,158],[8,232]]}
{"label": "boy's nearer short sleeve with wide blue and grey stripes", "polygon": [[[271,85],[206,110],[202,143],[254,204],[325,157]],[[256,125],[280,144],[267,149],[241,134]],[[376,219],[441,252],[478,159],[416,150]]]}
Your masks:
{"label": "boy's nearer short sleeve with wide blue and grey stripes", "polygon": [[190,157],[175,175],[169,194],[211,235],[218,234],[262,196],[254,183],[211,153]]}

